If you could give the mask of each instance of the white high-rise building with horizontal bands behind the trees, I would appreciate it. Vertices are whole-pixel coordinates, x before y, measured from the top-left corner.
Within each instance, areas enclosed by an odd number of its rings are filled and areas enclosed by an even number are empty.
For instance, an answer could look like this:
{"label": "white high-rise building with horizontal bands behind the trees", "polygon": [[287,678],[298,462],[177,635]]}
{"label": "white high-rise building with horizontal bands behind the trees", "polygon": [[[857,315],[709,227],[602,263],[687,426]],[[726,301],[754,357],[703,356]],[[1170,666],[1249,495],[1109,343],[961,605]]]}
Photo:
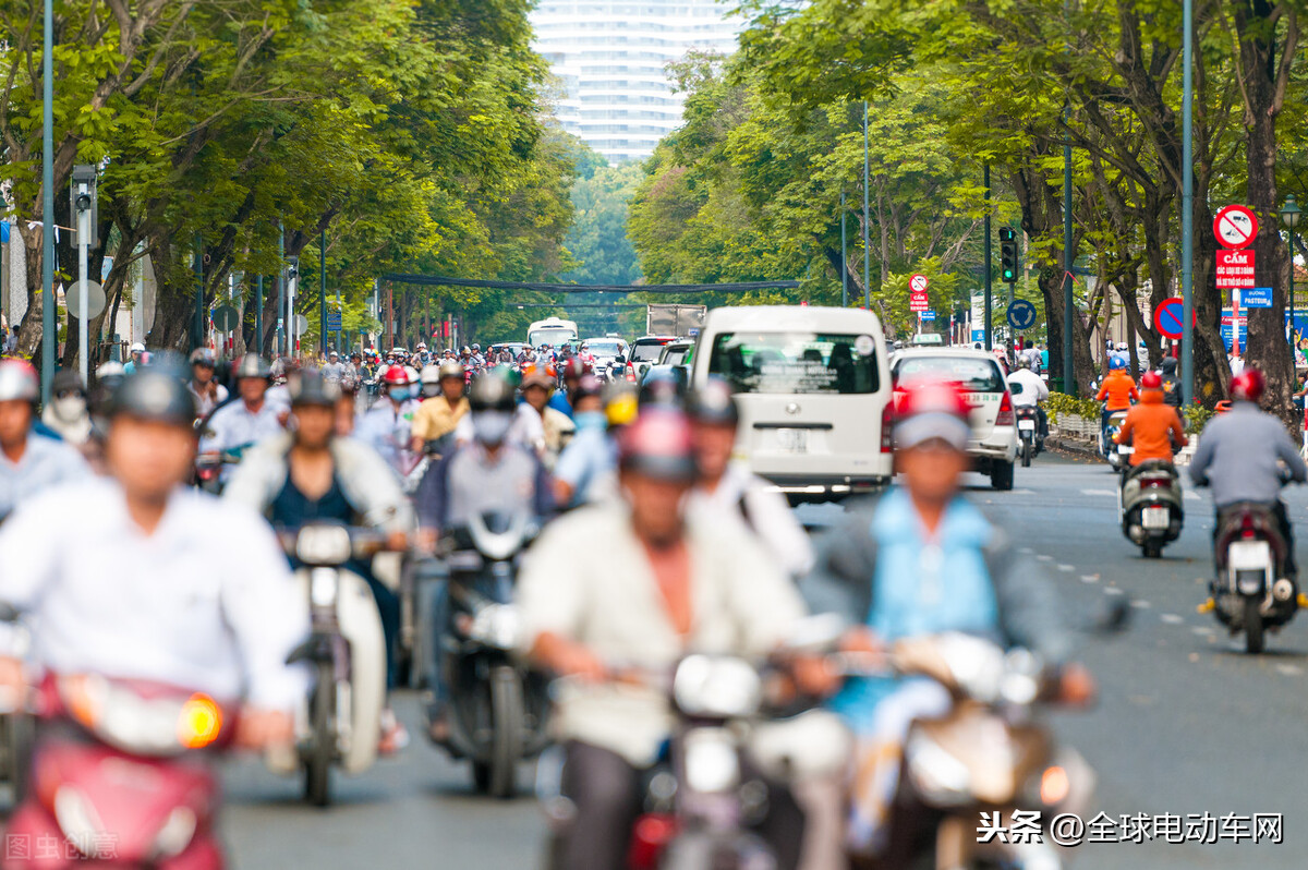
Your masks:
{"label": "white high-rise building with horizontal bands behind the trees", "polygon": [[535,48],[560,78],[559,120],[611,162],[647,157],[681,123],[667,64],[731,54],[738,18],[721,0],[540,0]]}

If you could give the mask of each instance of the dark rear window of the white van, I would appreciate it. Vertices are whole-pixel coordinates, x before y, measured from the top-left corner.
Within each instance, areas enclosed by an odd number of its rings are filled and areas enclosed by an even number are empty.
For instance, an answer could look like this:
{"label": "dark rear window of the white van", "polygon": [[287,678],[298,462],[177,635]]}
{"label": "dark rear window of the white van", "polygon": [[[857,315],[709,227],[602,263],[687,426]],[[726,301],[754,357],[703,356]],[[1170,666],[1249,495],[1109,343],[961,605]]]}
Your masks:
{"label": "dark rear window of the white van", "polygon": [[876,343],[870,335],[719,332],[709,374],[736,392],[876,392]]}

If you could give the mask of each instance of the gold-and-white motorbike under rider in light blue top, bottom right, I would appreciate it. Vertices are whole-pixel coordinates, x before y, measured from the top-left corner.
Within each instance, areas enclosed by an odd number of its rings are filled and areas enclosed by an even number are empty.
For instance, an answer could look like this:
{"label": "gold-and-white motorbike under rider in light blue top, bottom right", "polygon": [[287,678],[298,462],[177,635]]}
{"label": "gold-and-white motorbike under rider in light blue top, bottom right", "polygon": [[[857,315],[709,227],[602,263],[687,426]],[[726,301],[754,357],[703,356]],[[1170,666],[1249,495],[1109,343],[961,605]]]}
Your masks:
{"label": "gold-and-white motorbike under rider in light blue top, bottom right", "polygon": [[[835,659],[845,674],[887,672],[882,663],[865,667],[866,659],[857,653]],[[904,743],[899,799],[939,816],[935,866],[1065,867],[1049,823],[1088,806],[1095,776],[1079,754],[1054,743],[1040,716],[1057,680],[1039,657],[1024,649],[1005,652],[976,636],[944,633],[896,642],[888,670],[930,678],[954,699],[944,716],[914,721]],[[1041,828],[1042,836],[1031,839],[1039,841],[978,841],[977,819],[1012,824],[1016,811]]]}

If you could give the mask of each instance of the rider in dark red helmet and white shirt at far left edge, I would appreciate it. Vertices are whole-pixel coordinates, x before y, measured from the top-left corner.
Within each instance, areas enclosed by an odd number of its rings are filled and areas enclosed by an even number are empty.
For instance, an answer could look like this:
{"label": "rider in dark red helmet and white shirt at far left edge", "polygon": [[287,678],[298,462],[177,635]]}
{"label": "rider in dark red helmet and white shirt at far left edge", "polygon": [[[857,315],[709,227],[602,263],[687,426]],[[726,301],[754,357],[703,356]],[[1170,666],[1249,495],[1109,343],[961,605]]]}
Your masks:
{"label": "rider in dark red helmet and white shirt at far left edge", "polygon": [[75,447],[33,432],[39,395],[30,364],[0,361],[0,521],[47,487],[90,476]]}

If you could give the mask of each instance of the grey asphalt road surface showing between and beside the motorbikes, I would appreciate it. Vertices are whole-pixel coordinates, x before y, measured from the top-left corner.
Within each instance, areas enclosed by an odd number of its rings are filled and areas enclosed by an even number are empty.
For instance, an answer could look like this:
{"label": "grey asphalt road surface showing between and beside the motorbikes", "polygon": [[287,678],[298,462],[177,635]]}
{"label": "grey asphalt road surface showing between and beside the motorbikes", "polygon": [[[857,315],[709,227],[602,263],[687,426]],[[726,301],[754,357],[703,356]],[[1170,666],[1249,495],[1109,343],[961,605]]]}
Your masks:
{"label": "grey asphalt road surface showing between and beside the motorbikes", "polygon": [[[1283,814],[1281,845],[1087,844],[1076,867],[1290,869],[1308,863],[1308,618],[1248,657],[1196,606],[1210,570],[1211,509],[1186,495],[1186,527],[1159,561],[1144,560],[1116,525],[1108,467],[1045,454],[998,493],[976,479],[969,493],[1049,574],[1069,610],[1090,623],[1113,598],[1131,603],[1124,635],[1087,637],[1083,661],[1100,683],[1096,709],[1059,714],[1059,735],[1096,769],[1095,810],[1108,816],[1209,812]],[[1287,492],[1296,534],[1308,538],[1308,492]],[[837,508],[806,506],[815,525]],[[1300,547],[1301,551],[1301,547]],[[449,867],[526,870],[540,865],[543,820],[525,794],[497,802],[472,794],[464,765],[417,733],[412,695],[399,699],[415,731],[399,757],[357,778],[337,777],[337,803],[298,802],[298,784],[254,760],[225,777],[224,831],[239,867]],[[1114,832],[1116,836],[1116,832]]]}

